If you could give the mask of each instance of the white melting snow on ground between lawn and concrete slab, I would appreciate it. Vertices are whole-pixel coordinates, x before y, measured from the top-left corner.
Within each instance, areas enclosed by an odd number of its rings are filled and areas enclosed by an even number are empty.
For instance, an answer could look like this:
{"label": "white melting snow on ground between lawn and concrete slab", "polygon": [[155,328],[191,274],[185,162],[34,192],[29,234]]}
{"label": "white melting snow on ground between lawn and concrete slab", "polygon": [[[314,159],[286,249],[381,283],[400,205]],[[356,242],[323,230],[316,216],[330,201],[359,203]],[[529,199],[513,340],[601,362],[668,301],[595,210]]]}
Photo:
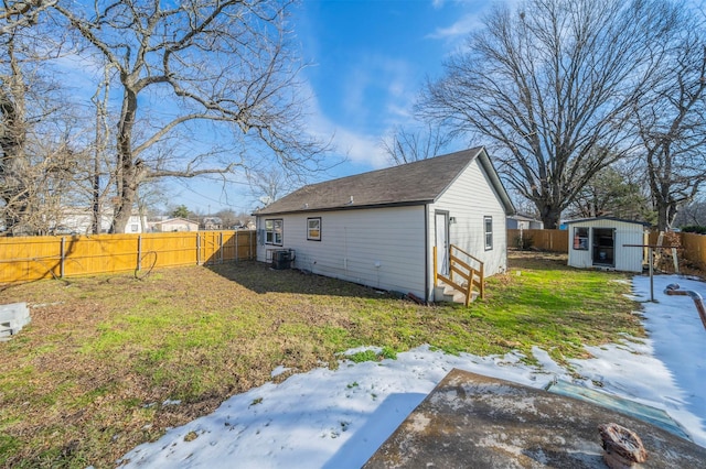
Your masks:
{"label": "white melting snow on ground between lawn and concrete slab", "polygon": [[[706,447],[706,329],[688,296],[667,296],[678,283],[706,296],[706,283],[678,276],[633,280],[642,302],[648,339],[588,347],[593,358],[571,360],[573,380],[546,351],[537,366],[522,357],[449,356],[429,347],[396,360],[317,369],[268,383],[225,401],[213,414],[172,428],[120,462],[130,468],[359,468],[453,368],[545,388],[555,379],[664,410]],[[272,370],[272,375],[284,372]],[[189,435],[189,437],[186,437]],[[195,438],[194,438],[195,436]]]}

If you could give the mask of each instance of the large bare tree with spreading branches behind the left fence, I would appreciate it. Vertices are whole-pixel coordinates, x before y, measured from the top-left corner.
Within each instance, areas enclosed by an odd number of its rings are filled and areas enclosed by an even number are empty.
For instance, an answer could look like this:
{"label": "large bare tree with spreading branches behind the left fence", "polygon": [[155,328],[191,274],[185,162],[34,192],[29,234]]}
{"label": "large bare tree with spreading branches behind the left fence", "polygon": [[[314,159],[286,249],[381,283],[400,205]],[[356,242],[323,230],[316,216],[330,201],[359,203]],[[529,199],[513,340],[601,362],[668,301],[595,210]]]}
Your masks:
{"label": "large bare tree with spreading branches behind the left fence", "polygon": [[228,173],[252,164],[253,149],[267,149],[292,172],[317,166],[323,148],[303,130],[290,7],[289,0],[55,6],[118,70],[114,232],[125,231],[148,179]]}

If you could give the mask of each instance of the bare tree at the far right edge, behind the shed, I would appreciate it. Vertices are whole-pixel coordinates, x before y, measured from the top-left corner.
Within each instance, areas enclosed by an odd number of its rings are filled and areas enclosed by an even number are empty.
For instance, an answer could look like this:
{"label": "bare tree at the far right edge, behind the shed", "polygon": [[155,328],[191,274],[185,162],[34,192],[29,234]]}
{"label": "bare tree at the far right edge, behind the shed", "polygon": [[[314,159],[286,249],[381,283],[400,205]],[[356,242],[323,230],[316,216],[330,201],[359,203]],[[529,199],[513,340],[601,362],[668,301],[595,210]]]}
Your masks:
{"label": "bare tree at the far right edge, behind the shed", "polygon": [[680,19],[682,34],[662,61],[667,74],[633,112],[661,231],[706,182],[706,29],[694,18]]}

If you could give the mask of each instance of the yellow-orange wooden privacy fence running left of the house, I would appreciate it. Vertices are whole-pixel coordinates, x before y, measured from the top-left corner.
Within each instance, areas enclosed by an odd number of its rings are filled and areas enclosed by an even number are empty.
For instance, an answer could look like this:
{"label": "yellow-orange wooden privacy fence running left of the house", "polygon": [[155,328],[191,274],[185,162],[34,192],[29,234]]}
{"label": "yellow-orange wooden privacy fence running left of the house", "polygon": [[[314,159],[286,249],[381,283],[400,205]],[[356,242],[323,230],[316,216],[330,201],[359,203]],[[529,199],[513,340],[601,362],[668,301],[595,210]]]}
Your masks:
{"label": "yellow-orange wooden privacy fence running left of the house", "polygon": [[255,231],[0,238],[0,283],[217,264],[256,257]]}

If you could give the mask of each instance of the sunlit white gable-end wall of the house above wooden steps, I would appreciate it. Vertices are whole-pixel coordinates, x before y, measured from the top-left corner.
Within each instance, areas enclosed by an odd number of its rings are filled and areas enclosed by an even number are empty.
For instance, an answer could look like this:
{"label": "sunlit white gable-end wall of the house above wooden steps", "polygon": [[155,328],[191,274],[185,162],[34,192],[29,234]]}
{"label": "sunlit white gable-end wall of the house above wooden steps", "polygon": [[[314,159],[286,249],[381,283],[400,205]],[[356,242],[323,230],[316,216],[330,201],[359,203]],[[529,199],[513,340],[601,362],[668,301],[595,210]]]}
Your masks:
{"label": "sunlit white gable-end wall of the house above wooden steps", "polygon": [[[485,274],[504,272],[507,266],[505,210],[478,160],[429,206],[428,236],[434,246],[435,210],[446,210],[456,222],[449,226],[449,241],[484,262]],[[485,249],[484,217],[492,217],[493,247]],[[431,248],[430,248],[431,249]],[[429,253],[432,259],[431,253]],[[430,271],[432,269],[430,268]],[[431,273],[434,275],[434,273]]]}

